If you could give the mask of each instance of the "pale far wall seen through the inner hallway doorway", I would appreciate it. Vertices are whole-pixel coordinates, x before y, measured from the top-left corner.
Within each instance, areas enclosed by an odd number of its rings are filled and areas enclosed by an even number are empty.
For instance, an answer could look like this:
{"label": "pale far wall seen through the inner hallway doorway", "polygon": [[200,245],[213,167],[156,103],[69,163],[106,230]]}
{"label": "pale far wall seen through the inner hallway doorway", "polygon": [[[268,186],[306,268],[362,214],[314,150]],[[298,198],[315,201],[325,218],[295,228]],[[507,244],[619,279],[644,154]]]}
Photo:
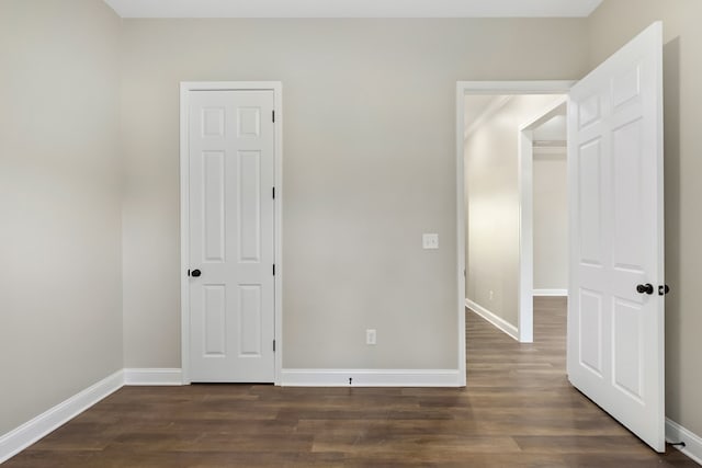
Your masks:
{"label": "pale far wall seen through the inner hallway doorway", "polygon": [[566,149],[534,150],[534,289],[568,289]]}

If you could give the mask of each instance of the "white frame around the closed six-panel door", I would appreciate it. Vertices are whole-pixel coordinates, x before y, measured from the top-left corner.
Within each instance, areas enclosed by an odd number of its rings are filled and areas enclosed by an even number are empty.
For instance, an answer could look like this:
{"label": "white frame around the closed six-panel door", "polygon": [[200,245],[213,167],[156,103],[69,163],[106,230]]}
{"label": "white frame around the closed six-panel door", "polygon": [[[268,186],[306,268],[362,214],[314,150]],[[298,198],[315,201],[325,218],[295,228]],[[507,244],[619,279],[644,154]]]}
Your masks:
{"label": "white frame around the closed six-panel door", "polygon": [[192,91],[273,91],[275,112],[274,132],[274,180],[275,203],[273,220],[273,258],[275,261],[274,284],[274,338],[275,377],[281,385],[283,362],[283,85],[281,81],[182,81],[180,83],[180,310],[181,310],[181,380],[190,385],[190,153],[189,110]]}

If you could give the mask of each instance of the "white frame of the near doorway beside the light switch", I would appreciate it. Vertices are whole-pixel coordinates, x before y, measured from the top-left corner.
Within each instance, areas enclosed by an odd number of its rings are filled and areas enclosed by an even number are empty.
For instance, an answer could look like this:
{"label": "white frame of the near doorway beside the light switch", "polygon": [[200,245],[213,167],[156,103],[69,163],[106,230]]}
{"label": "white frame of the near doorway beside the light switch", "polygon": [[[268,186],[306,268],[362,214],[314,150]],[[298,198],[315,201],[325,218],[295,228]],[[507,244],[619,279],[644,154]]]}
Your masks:
{"label": "white frame of the near doorway beside the light switch", "polygon": [[[457,81],[456,82],[456,252],[457,263],[457,312],[458,312],[458,377],[466,383],[465,344],[465,96],[471,94],[568,94],[577,80],[533,80],[533,81]],[[520,201],[520,213],[522,210]],[[520,216],[521,217],[521,216]],[[522,226],[520,222],[520,239]],[[521,252],[521,246],[520,246]],[[521,254],[520,254],[521,256]],[[520,258],[520,271],[521,271]],[[521,284],[521,283],[520,283]],[[521,286],[520,286],[521,290]],[[518,292],[519,293],[519,292]],[[521,322],[521,315],[520,315]],[[523,329],[518,327],[521,335]]]}

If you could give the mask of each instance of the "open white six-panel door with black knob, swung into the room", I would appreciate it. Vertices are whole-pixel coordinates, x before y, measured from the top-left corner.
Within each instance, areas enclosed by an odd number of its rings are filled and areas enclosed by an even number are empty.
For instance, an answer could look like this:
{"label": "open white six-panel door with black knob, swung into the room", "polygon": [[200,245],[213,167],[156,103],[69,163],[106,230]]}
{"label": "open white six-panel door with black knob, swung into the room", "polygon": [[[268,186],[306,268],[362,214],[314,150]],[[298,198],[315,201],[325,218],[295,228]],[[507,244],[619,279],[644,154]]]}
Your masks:
{"label": "open white six-panel door with black knob, swung into the room", "polygon": [[663,25],[578,82],[568,107],[568,378],[665,452]]}

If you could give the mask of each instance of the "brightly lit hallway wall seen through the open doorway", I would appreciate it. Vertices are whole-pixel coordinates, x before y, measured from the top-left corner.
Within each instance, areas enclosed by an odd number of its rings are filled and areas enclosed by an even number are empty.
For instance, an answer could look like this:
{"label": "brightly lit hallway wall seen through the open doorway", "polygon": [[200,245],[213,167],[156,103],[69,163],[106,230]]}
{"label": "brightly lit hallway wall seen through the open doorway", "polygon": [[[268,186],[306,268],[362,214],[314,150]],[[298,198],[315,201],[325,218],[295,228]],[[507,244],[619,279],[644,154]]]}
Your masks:
{"label": "brightly lit hallway wall seen through the open doorway", "polygon": [[[466,297],[517,327],[518,132],[558,99],[516,95],[465,140]],[[471,98],[466,98],[471,105]]]}

